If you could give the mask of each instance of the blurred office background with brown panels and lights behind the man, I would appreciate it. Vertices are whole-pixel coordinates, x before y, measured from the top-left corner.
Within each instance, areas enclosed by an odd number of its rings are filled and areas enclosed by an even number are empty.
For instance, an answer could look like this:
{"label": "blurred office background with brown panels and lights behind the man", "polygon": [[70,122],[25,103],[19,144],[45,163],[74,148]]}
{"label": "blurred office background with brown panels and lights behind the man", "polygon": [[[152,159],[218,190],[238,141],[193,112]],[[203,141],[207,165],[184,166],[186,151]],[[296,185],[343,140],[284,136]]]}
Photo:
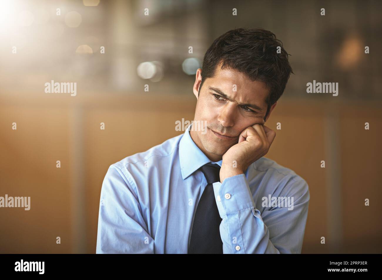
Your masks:
{"label": "blurred office background with brown panels and lights behind the man", "polygon": [[[0,196],[31,197],[29,211],[0,208],[0,253],[95,253],[108,166],[183,133],[175,121],[193,120],[195,71],[235,27],[270,30],[291,54],[295,75],[265,124],[282,130],[266,157],[309,184],[302,253],[382,253],[381,8],[0,0]],[[76,96],[45,93],[51,80],[76,82]],[[313,80],[338,82],[338,96],[306,93]]]}

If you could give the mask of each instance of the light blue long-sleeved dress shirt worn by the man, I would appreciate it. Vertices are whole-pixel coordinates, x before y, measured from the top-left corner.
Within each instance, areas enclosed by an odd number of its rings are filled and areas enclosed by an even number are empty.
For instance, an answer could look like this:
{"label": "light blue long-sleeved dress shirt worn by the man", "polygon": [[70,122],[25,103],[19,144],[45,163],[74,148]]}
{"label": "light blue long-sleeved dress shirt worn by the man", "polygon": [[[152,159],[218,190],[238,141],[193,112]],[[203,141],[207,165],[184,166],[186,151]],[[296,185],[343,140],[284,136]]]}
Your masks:
{"label": "light blue long-sleeved dress shirt worn by the man", "polygon": [[[109,167],[100,195],[96,253],[187,253],[207,186],[198,169],[211,162],[190,128]],[[222,160],[216,163],[221,166]],[[301,253],[310,195],[294,171],[262,157],[245,174],[213,187],[224,254]]]}

